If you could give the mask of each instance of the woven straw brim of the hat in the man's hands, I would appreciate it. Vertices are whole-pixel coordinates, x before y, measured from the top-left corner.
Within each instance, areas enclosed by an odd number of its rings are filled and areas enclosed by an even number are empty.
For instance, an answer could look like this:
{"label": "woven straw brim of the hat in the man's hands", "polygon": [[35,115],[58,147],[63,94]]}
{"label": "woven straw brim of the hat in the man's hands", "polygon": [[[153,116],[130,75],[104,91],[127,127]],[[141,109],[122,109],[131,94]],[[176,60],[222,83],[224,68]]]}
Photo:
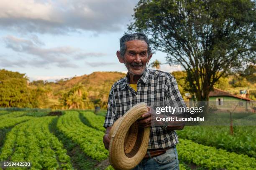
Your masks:
{"label": "woven straw brim of the hat in the man's hands", "polygon": [[145,102],[134,105],[128,110],[123,117],[120,117],[110,130],[110,145],[109,145],[109,160],[110,164],[116,170],[130,170],[134,168],[144,158],[150,134],[150,128],[144,128],[141,145],[133,157],[128,157],[125,154],[125,135],[131,125],[138,120],[141,115],[148,112]]}

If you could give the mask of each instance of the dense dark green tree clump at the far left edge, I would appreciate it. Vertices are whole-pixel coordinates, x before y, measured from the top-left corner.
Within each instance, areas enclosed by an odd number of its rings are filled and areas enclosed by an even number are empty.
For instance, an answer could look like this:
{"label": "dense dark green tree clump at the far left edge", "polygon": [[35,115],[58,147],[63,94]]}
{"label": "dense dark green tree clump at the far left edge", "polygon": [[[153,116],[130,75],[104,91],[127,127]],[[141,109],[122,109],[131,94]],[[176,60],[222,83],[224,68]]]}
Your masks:
{"label": "dense dark green tree clump at the far left edge", "polygon": [[25,74],[0,70],[0,107],[31,107]]}

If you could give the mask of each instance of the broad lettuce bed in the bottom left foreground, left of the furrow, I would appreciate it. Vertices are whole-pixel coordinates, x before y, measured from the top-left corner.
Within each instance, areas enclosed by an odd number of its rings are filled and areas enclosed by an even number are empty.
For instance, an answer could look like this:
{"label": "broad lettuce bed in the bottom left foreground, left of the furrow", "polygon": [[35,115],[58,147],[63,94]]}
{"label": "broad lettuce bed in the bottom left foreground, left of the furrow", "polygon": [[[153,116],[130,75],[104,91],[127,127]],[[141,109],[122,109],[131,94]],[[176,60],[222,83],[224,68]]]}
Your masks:
{"label": "broad lettuce bed in the bottom left foreground, left of the furrow", "polygon": [[34,118],[16,125],[6,135],[0,161],[31,162],[31,170],[73,169],[67,150],[49,131],[53,119]]}

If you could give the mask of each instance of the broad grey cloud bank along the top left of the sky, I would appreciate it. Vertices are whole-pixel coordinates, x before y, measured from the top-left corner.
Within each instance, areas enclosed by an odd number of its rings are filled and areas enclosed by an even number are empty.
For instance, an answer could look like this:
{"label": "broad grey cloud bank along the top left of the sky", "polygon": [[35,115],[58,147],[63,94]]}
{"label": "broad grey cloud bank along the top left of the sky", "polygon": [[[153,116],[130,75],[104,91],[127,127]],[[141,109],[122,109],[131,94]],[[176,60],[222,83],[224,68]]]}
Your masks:
{"label": "broad grey cloud bank along the top left of the sky", "polygon": [[1,0],[0,27],[18,32],[62,34],[114,32],[131,20],[138,0]]}

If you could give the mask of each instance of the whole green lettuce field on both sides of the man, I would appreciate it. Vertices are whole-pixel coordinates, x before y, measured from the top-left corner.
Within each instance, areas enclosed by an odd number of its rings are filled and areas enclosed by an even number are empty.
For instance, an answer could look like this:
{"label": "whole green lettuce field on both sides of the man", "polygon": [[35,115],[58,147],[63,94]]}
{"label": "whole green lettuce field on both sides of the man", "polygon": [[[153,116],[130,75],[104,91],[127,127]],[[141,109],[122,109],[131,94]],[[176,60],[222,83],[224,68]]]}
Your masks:
{"label": "whole green lettuce field on both sides of the man", "polygon": [[[7,170],[111,170],[102,143],[104,119],[80,110],[1,110],[0,162],[31,163]],[[256,170],[255,128],[235,125],[234,135],[224,126],[177,131],[180,169]]]}

